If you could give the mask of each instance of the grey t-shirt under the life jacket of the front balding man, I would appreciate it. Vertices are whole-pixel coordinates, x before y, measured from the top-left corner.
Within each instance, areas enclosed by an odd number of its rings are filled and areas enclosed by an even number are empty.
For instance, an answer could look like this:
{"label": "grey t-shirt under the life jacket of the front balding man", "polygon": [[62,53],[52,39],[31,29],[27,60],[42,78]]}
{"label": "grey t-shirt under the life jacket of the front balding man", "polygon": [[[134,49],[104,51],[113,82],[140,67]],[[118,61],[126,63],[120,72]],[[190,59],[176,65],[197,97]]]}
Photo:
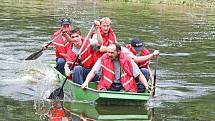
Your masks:
{"label": "grey t-shirt under the life jacket of the front balding man", "polygon": [[[137,64],[131,60],[131,66],[132,66],[132,73],[133,76],[136,78],[141,74],[141,71]],[[120,79],[120,62],[114,61],[114,74],[115,74],[115,80]],[[92,70],[95,70],[95,74],[102,75],[102,68],[101,68],[101,58],[96,61],[95,65],[93,66]]]}

